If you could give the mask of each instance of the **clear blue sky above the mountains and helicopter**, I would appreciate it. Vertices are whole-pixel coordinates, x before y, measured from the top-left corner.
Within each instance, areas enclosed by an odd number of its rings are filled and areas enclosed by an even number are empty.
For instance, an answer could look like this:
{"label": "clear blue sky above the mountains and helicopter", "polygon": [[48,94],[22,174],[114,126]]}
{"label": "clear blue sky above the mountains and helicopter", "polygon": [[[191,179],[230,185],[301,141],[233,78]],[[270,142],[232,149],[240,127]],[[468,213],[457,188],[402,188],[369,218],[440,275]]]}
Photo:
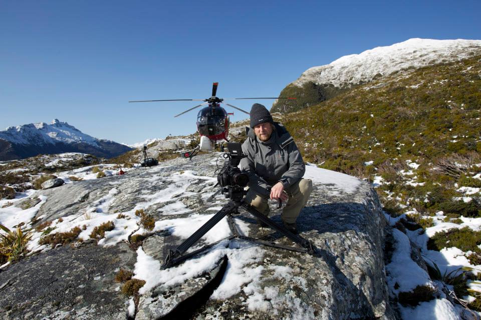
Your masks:
{"label": "clear blue sky above the mountains and helicopter", "polygon": [[278,96],[346,54],[481,39],[480,15],[481,1],[0,0],[0,129],[59,118],[125,143],[193,133],[198,110],[173,116],[195,101],[127,101],[206,98],[213,81],[219,97]]}

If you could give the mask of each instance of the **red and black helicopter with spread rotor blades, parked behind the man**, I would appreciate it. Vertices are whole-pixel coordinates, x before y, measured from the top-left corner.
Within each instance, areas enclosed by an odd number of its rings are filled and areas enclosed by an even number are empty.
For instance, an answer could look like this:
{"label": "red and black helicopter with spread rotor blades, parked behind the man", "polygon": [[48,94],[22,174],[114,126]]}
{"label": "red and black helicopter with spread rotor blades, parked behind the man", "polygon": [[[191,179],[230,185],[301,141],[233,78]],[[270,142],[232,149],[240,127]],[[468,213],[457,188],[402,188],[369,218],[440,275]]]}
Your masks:
{"label": "red and black helicopter with spread rotor blades, parked behind the man", "polygon": [[219,141],[227,141],[228,133],[229,133],[229,115],[233,115],[233,113],[229,113],[225,111],[223,107],[220,106],[220,103],[224,103],[234,109],[242,111],[244,113],[250,114],[246,110],[238,108],[232,104],[223,102],[224,100],[239,100],[239,99],[296,99],[292,97],[257,97],[257,98],[219,98],[216,96],[217,94],[217,86],[218,82],[212,83],[212,96],[206,99],[164,99],[164,100],[135,100],[129,102],[157,102],[157,101],[203,101],[196,106],[191,107],[179,114],[174,115],[177,117],[181,114],[184,114],[190,110],[198,108],[202,105],[207,104],[207,106],[203,107],[197,113],[197,131],[200,135],[200,143],[194,149],[190,151],[186,151],[182,153],[182,156],[185,158],[192,158],[199,150],[202,151],[210,151],[213,149],[213,145],[217,144]]}

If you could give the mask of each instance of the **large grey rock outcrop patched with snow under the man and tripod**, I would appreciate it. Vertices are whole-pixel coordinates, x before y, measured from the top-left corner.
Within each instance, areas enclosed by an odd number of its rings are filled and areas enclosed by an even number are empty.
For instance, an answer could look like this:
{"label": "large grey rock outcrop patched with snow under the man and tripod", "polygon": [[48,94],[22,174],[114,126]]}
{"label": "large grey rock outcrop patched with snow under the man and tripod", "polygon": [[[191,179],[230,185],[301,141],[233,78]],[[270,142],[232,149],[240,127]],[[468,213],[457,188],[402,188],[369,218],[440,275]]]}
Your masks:
{"label": "large grey rock outcrop patched with snow under the man and tripod", "polygon": [[[314,190],[298,226],[319,256],[222,240],[229,234],[222,220],[192,248],[219,241],[206,254],[161,269],[168,250],[227,201],[221,194],[206,201],[217,190],[217,155],[177,158],[121,176],[38,191],[46,200],[39,204],[36,225],[63,218],[61,223],[68,223],[64,229],[82,226],[89,221],[86,215],[95,212],[92,221],[105,217],[116,228],[105,232],[99,244],[87,241],[49,250],[33,245],[43,251],[5,267],[0,272],[3,318],[60,319],[68,318],[67,311],[73,318],[128,318],[133,302],[114,281],[121,267],[146,281],[133,316],[138,319],[167,314],[197,319],[395,318],[384,271],[386,222],[376,192],[366,182],[314,166],[307,166],[305,177],[313,179]],[[140,208],[155,218],[153,230],[141,227],[134,214]],[[271,217],[279,222],[280,210],[272,210]],[[260,228],[242,209],[233,220],[245,235],[293,245]],[[142,246],[129,248],[126,242],[134,233],[147,238]]]}

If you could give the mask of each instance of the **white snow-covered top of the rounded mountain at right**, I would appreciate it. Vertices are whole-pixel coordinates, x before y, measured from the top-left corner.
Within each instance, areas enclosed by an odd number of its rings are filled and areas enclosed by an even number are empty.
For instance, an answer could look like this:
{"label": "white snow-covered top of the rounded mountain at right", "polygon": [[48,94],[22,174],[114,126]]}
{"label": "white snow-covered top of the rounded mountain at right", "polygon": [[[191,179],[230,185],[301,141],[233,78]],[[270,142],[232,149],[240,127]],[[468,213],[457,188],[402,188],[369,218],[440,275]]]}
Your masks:
{"label": "white snow-covered top of the rounded mountain at right", "polygon": [[402,69],[460,60],[475,54],[481,54],[481,40],[412,38],[311,67],[292,83],[303,86],[314,82],[342,87],[368,82]]}

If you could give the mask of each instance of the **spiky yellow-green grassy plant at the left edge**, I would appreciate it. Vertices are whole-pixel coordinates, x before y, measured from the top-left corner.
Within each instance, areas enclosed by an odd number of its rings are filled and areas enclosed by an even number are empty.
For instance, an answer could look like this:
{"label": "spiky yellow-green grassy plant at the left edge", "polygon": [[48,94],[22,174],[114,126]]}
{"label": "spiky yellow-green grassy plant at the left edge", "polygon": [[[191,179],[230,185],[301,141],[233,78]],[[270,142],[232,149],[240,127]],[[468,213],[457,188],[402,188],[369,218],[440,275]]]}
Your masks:
{"label": "spiky yellow-green grassy plant at the left edge", "polygon": [[0,229],[5,231],[5,233],[0,233],[0,264],[20,260],[28,252],[27,242],[32,237],[32,230],[17,226],[15,231],[11,231],[2,224],[0,224]]}

